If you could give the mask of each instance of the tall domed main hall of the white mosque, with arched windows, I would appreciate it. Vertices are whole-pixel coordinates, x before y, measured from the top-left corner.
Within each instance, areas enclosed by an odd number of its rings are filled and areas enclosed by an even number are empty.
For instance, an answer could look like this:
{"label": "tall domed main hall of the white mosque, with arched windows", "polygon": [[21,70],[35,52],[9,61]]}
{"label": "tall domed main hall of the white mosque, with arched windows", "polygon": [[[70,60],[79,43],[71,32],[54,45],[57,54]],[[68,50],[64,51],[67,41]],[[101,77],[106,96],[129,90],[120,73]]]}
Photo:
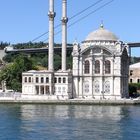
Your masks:
{"label": "tall domed main hall of the white mosque, with arched windows", "polygon": [[73,46],[73,94],[76,98],[128,97],[128,46],[103,27]]}

